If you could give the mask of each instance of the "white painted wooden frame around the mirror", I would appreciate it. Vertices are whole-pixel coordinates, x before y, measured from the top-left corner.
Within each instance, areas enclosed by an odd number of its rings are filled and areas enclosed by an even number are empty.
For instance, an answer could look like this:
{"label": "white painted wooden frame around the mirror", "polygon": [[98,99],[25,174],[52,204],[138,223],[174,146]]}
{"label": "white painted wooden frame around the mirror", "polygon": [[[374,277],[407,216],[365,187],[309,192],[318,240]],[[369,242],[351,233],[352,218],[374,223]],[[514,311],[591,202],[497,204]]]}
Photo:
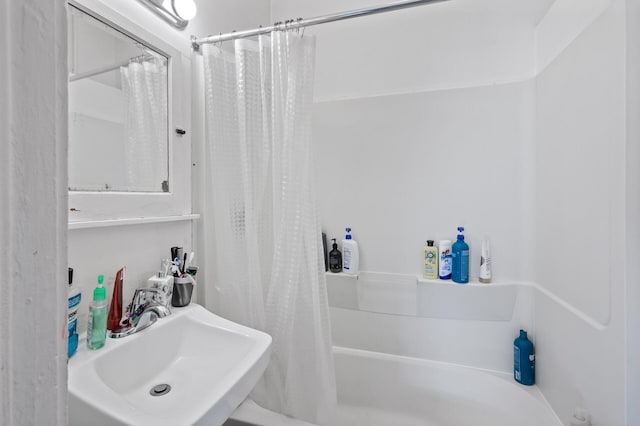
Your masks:
{"label": "white painted wooden frame around the mirror", "polygon": [[[137,2],[132,3],[139,5]],[[169,80],[167,88],[169,192],[69,191],[69,223],[189,215],[191,213],[191,137],[189,132],[191,108],[189,97],[183,94],[188,94],[191,87],[190,57],[103,2],[68,0],[67,7],[78,9],[165,55],[168,58]],[[185,40],[185,43],[188,42]],[[184,124],[178,126],[178,123]],[[187,129],[187,133],[178,135],[175,132],[176,127]]]}

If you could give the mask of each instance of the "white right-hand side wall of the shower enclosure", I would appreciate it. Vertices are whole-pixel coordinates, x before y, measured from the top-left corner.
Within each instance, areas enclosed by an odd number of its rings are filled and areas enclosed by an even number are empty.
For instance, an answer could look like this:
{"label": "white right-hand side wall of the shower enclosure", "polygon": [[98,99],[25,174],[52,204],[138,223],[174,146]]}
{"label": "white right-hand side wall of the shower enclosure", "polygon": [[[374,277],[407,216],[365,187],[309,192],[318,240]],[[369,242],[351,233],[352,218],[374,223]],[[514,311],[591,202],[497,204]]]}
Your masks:
{"label": "white right-hand side wall of the shower enclosure", "polygon": [[[534,246],[544,267],[534,278],[551,296],[539,293],[535,304],[538,384],[567,424],[583,406],[593,425],[618,426],[625,405],[625,5],[567,3],[558,0],[538,31],[546,40],[538,56],[556,53],[536,79]],[[571,37],[549,24],[572,20],[582,25]],[[554,37],[559,47],[550,45]]]}

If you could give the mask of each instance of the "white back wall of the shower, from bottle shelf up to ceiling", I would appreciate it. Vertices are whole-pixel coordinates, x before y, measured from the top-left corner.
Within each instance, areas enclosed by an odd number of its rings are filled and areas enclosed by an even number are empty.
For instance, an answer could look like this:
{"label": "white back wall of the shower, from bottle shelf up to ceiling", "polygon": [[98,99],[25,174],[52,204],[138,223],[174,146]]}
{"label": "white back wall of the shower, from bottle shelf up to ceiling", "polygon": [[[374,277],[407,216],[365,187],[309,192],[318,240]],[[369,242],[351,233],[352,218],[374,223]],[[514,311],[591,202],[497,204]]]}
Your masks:
{"label": "white back wall of the shower, from bottle shelf up to ceiling", "polygon": [[[531,276],[534,29],[551,1],[455,1],[306,29],[318,35],[314,143],[328,238],[361,269],[419,274],[424,241],[467,228],[478,275]],[[370,5],[276,0],[274,20]],[[517,250],[514,250],[517,248]]]}

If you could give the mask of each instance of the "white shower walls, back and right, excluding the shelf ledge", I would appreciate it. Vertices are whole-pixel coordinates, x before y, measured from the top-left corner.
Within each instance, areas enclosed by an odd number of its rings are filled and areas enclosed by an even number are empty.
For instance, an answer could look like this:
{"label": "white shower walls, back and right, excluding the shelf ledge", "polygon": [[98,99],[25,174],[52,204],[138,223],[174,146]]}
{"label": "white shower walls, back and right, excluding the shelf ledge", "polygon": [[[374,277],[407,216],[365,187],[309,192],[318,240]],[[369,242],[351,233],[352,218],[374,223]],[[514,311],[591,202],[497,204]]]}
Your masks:
{"label": "white shower walls, back and right, excluding the shelf ledge", "polygon": [[[272,17],[369,5],[273,0]],[[488,235],[495,280],[531,283],[507,323],[333,308],[336,344],[509,371],[492,347],[530,321],[562,421],[624,424],[624,6],[458,0],[307,28],[328,238],[351,226],[361,270],[419,275],[424,240],[463,225],[472,276]]]}

